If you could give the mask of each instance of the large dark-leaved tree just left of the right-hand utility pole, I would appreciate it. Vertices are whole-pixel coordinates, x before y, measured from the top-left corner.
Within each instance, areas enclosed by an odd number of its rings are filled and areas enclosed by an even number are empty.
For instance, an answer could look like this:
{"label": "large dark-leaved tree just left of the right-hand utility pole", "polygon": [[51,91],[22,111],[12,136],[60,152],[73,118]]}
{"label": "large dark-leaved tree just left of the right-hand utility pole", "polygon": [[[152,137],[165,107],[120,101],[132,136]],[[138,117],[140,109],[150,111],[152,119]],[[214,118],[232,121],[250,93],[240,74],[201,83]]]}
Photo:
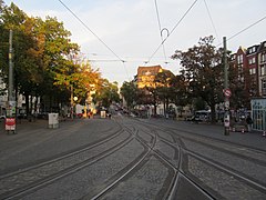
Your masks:
{"label": "large dark-leaved tree just left of the right-hand utility pole", "polygon": [[173,59],[180,59],[190,82],[193,98],[201,97],[212,111],[215,121],[215,104],[223,97],[223,51],[213,46],[214,38],[201,38],[197,46],[187,51],[175,51]]}

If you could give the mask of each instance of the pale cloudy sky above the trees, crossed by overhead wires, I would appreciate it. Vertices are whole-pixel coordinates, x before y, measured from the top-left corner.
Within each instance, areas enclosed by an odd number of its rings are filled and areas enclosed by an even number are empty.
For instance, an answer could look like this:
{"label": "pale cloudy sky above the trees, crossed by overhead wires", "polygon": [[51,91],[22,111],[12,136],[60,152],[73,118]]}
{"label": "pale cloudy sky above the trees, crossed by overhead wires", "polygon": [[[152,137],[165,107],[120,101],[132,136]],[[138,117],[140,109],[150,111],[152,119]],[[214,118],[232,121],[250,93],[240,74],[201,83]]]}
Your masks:
{"label": "pale cloudy sky above the trees, crossed by overhead wires", "polygon": [[[92,68],[119,86],[133,80],[140,66],[161,64],[177,74],[180,62],[171,56],[203,37],[214,36],[216,47],[226,37],[233,52],[266,40],[265,0],[3,1],[7,6],[14,2],[28,16],[57,17]],[[163,46],[162,39],[166,39]]]}

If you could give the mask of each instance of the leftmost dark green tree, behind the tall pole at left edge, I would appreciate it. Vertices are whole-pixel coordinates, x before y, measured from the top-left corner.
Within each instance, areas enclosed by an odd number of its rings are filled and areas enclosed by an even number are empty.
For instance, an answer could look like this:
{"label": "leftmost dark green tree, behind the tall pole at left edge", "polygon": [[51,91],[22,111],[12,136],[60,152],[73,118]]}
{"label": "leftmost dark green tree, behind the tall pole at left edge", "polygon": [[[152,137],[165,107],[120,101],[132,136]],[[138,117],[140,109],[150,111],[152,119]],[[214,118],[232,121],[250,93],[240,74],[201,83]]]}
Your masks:
{"label": "leftmost dark green tree, behind the tall pole at left edge", "polygon": [[[9,41],[9,31],[13,31],[13,63],[14,63],[14,89],[17,92],[22,89],[28,89],[25,84],[31,81],[30,64],[32,60],[28,57],[28,49],[33,44],[33,40],[30,36],[25,33],[28,23],[28,16],[20,10],[14,3],[11,3],[10,7],[4,7],[1,14],[1,21],[3,22],[3,29],[1,32],[1,38],[6,42]],[[3,46],[3,54],[8,54],[8,46]],[[3,60],[3,73],[8,74],[8,57]],[[8,82],[6,80],[6,82]],[[16,93],[17,93],[16,92]]]}

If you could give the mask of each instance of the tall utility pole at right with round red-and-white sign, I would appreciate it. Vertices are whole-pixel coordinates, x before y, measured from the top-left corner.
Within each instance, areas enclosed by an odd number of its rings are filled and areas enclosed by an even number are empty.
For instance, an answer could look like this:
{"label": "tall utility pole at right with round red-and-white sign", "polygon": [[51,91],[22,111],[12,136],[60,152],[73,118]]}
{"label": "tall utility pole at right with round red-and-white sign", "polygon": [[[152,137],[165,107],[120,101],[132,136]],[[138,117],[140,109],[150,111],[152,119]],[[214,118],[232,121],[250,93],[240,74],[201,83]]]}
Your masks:
{"label": "tall utility pole at right with round red-and-white sign", "polygon": [[228,59],[227,59],[227,48],[226,48],[226,37],[223,38],[224,41],[224,136],[229,136],[229,97],[231,90],[228,86]]}

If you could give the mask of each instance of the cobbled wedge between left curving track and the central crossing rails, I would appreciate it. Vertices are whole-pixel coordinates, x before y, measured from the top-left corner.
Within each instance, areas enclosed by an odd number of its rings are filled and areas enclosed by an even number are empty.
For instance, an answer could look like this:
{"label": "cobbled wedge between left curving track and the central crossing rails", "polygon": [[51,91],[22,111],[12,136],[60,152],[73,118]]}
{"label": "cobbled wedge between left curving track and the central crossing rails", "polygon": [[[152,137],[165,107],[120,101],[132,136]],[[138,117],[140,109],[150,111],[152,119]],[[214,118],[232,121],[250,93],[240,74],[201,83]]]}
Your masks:
{"label": "cobbled wedge between left curving track and the central crossing rails", "polygon": [[115,153],[22,199],[80,199],[86,194],[96,194],[95,191],[101,190],[104,182],[130,164],[143,150],[143,147],[133,140]]}

